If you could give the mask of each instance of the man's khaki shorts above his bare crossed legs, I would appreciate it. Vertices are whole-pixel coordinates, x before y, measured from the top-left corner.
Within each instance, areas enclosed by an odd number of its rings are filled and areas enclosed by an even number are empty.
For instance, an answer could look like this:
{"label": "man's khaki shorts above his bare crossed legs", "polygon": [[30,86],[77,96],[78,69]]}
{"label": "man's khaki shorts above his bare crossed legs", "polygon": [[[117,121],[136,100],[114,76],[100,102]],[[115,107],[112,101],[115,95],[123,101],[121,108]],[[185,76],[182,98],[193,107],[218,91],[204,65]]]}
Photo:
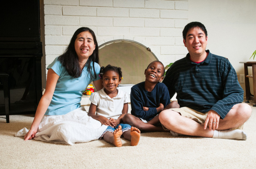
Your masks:
{"label": "man's khaki shorts above his bare crossed legs", "polygon": [[[190,109],[188,107],[173,108],[173,109],[169,109],[169,110],[176,111],[176,112],[180,113],[182,116],[190,118],[193,121],[196,121],[197,123],[200,123],[200,124],[203,124],[205,122],[206,117],[208,115],[208,112],[207,113],[201,113],[199,111]],[[241,125],[239,127],[236,127],[236,128],[230,129],[230,130],[235,130],[235,129],[242,130],[243,127],[244,127],[244,125]]]}

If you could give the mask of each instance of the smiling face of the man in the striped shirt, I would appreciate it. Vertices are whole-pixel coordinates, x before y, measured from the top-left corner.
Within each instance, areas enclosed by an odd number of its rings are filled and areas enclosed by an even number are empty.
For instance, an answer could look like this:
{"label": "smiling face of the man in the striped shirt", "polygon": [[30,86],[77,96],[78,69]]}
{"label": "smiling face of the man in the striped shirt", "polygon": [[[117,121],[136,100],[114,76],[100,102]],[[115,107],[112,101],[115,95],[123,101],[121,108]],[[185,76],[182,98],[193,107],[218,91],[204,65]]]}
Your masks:
{"label": "smiling face of the man in the striped shirt", "polygon": [[191,56],[201,56],[207,45],[207,36],[204,34],[201,28],[191,28],[186,36],[186,40],[183,39],[185,47]]}

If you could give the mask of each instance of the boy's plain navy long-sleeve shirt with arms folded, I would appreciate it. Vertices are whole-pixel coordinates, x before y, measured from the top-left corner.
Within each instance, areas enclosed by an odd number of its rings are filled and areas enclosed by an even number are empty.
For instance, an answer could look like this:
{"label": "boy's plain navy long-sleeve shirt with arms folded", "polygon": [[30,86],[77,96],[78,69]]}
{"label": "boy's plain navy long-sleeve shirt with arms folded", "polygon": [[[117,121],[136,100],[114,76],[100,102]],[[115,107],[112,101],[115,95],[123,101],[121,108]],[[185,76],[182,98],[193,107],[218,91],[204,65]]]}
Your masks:
{"label": "boy's plain navy long-sleeve shirt with arms folded", "polygon": [[[162,103],[164,107],[170,103],[170,96],[165,84],[158,82],[151,92],[145,89],[145,82],[132,86],[132,115],[150,121],[158,114],[157,107],[159,107],[160,103]],[[143,107],[148,107],[148,111],[144,111]]]}

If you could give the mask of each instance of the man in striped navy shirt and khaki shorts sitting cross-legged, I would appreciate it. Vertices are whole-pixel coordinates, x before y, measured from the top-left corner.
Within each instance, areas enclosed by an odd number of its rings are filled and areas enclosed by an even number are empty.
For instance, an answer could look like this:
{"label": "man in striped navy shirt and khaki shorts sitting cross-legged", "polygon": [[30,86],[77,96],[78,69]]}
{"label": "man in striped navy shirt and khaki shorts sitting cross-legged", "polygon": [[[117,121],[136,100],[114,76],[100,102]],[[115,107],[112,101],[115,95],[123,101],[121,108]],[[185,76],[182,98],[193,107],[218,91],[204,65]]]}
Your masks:
{"label": "man in striped navy shirt and khaki shorts sitting cross-legged", "polygon": [[246,140],[240,129],[252,109],[241,103],[244,91],[236,71],[226,58],[206,50],[207,31],[202,23],[187,24],[182,34],[189,53],[173,63],[163,80],[170,98],[177,93],[181,108],[159,114],[163,127],[173,134]]}

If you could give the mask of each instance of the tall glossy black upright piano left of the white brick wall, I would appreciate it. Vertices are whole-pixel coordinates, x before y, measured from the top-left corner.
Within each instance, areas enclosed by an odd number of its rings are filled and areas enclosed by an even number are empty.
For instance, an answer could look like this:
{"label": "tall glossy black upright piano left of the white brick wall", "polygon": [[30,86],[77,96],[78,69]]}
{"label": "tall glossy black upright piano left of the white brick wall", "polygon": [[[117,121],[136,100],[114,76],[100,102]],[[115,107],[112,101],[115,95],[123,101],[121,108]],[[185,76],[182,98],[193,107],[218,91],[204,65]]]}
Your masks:
{"label": "tall glossy black upright piano left of the white brick wall", "polygon": [[[35,113],[42,96],[39,0],[0,5],[0,72],[7,73],[10,114]],[[0,81],[0,115],[5,115]]]}

